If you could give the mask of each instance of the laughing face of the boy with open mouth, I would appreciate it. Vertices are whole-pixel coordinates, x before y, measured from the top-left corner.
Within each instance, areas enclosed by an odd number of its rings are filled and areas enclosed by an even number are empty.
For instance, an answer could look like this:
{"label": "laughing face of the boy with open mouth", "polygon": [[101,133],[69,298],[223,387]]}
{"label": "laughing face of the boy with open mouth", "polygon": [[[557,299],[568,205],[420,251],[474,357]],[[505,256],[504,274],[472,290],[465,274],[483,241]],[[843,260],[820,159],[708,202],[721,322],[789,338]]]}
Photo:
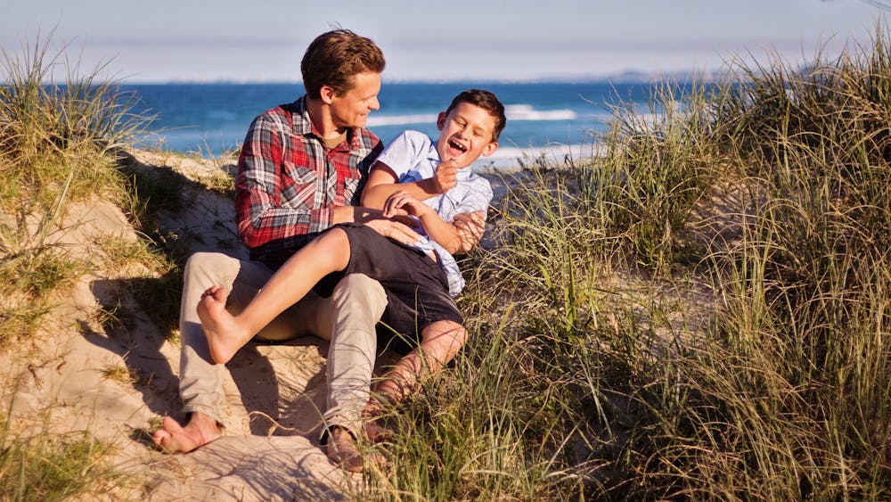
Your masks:
{"label": "laughing face of the boy with open mouth", "polygon": [[491,155],[498,148],[492,141],[495,118],[475,104],[458,103],[448,115],[440,112],[437,128],[439,159],[454,160],[458,168],[466,168],[480,155]]}

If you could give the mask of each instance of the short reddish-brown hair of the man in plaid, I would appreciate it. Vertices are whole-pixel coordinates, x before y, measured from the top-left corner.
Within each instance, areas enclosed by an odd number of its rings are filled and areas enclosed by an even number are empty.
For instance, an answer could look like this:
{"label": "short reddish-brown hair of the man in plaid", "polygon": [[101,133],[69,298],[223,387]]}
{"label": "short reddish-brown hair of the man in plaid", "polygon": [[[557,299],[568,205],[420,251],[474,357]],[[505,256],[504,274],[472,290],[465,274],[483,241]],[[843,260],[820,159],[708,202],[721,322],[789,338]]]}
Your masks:
{"label": "short reddish-brown hair of the man in plaid", "polygon": [[344,95],[353,88],[355,75],[381,73],[385,65],[384,54],[370,38],[348,29],[334,29],[315,37],[307,47],[300,72],[307,95],[317,99],[323,86],[331,86],[336,95]]}

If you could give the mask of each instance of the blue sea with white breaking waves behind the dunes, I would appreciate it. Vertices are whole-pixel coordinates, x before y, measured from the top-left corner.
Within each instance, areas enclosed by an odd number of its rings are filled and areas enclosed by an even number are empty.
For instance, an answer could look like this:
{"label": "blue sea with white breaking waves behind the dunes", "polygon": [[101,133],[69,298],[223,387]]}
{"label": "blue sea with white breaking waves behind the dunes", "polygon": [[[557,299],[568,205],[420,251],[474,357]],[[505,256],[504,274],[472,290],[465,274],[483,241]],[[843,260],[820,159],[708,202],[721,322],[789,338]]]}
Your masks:
{"label": "blue sea with white breaking waves behind the dunes", "polygon": [[[543,155],[591,155],[594,136],[611,118],[609,103],[646,103],[650,83],[388,83],[380,90],[380,110],[368,128],[386,143],[405,129],[437,137],[436,119],[454,95],[479,87],[504,103],[507,127],[500,147],[475,168],[518,166]],[[303,94],[295,84],[140,84],[124,90],[139,96],[139,109],[156,116],[143,146],[175,152],[218,155],[241,146],[258,114]]]}

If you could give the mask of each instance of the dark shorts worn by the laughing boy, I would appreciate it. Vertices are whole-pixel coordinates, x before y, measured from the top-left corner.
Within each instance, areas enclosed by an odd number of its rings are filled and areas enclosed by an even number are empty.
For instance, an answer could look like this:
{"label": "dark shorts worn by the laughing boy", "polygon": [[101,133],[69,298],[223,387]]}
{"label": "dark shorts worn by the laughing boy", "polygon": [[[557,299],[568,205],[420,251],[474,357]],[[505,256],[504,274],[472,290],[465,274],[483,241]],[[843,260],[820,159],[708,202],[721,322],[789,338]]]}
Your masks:
{"label": "dark shorts worn by the laughing boy", "polygon": [[421,342],[421,330],[436,321],[464,324],[464,318],[448,294],[448,281],[442,268],[416,248],[378,234],[372,227],[357,223],[332,226],[347,233],[347,267],[323,277],[314,288],[330,296],[334,286],[349,274],[376,279],[387,292],[387,309],[378,324],[379,339],[401,354]]}

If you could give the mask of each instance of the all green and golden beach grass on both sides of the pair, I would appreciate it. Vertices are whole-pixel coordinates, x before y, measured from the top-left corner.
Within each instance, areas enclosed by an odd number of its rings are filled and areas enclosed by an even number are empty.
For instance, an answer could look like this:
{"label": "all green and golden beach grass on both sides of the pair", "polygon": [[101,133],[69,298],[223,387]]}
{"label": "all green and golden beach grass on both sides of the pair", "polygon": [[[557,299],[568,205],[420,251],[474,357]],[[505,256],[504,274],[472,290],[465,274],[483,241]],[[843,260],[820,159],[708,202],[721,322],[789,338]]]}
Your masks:
{"label": "all green and golden beach grass on both sides of the pair", "polygon": [[[188,202],[163,173],[120,169],[114,146],[139,119],[92,78],[43,86],[52,58],[39,45],[5,61],[0,350],[37,333],[53,294],[83,273],[48,233],[95,193],[147,239],[105,243],[117,254],[104,266],[156,271],[163,280],[138,296],[173,322],[184,251],[156,220]],[[887,26],[805,68],[740,59],[726,75],[666,83],[649,110],[617,102],[593,138],[600,156],[536,161],[508,180],[492,244],[462,259],[468,346],[388,413],[391,469],[370,469],[349,493],[891,498]],[[231,190],[225,179],[217,189]],[[119,307],[102,323],[122,324]],[[132,379],[123,366],[102,371]],[[22,480],[48,476],[71,490],[58,493],[88,497],[113,479],[42,462],[101,465],[106,450],[89,436],[20,436],[0,415],[9,498],[57,493]]]}

